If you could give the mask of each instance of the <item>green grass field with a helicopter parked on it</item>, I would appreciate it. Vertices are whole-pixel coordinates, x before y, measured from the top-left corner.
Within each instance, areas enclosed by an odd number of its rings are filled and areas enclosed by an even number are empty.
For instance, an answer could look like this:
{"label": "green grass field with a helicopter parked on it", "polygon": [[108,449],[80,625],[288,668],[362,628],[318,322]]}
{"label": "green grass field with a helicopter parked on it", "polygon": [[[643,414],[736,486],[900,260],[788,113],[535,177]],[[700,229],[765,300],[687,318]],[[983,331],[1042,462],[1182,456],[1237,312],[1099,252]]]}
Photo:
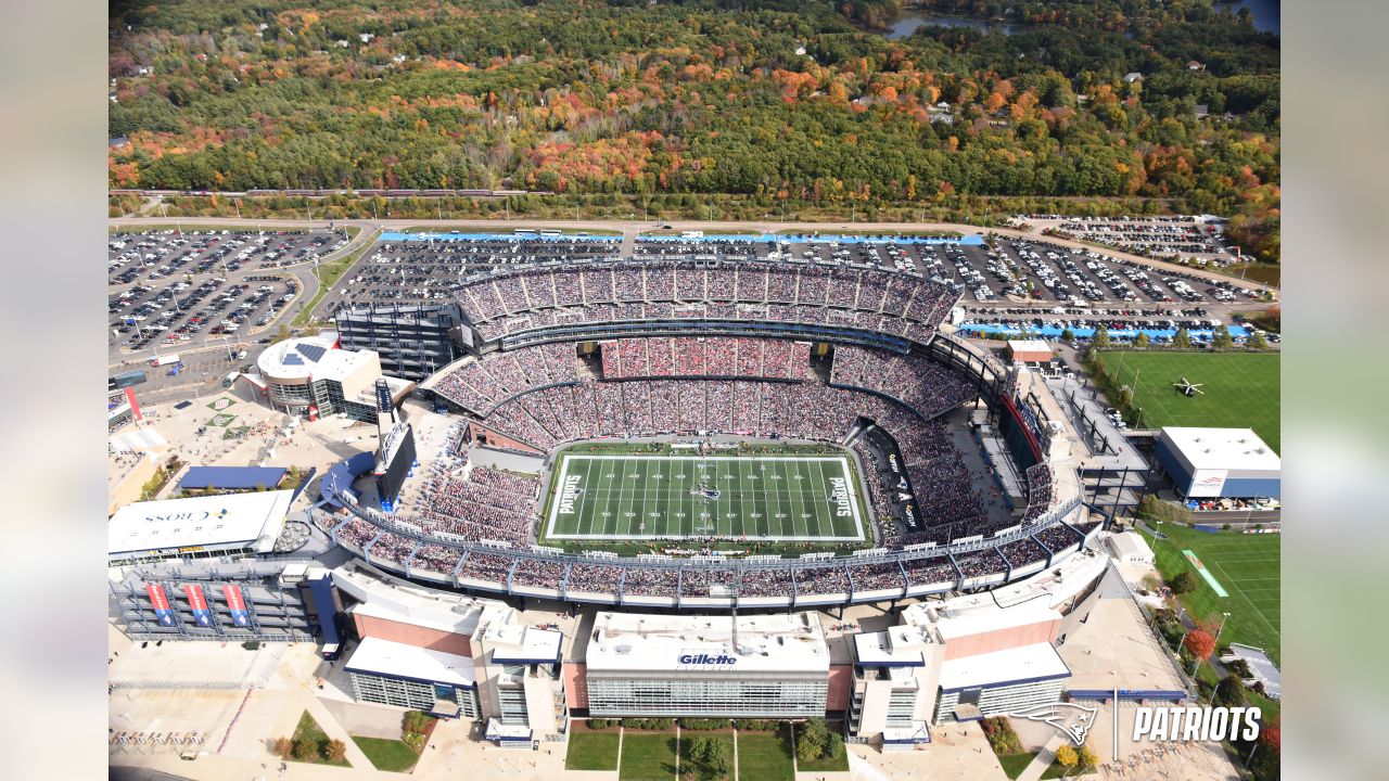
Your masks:
{"label": "green grass field with a helicopter parked on it", "polygon": [[[1118,385],[1133,388],[1133,404],[1143,409],[1143,427],[1189,425],[1253,428],[1279,452],[1278,353],[1101,353]],[[1182,378],[1200,384],[1193,397],[1172,384]]]}

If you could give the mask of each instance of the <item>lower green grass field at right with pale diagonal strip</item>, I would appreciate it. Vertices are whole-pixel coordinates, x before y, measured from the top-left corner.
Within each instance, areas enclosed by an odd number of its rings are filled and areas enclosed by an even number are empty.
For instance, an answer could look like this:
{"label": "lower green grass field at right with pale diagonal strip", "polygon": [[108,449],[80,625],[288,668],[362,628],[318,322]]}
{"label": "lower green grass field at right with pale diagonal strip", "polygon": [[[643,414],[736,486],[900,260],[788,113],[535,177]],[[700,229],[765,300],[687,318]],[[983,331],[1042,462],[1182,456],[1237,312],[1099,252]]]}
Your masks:
{"label": "lower green grass field at right with pale diagonal strip", "polygon": [[[1276,534],[1207,534],[1175,524],[1161,524],[1167,539],[1149,539],[1157,554],[1157,570],[1171,581],[1192,570],[1196,591],[1179,596],[1195,618],[1220,621],[1229,613],[1221,642],[1238,642],[1264,649],[1275,663],[1282,645],[1279,607],[1282,603],[1281,545]],[[1229,593],[1220,598],[1195,571],[1182,550],[1190,550]]]}

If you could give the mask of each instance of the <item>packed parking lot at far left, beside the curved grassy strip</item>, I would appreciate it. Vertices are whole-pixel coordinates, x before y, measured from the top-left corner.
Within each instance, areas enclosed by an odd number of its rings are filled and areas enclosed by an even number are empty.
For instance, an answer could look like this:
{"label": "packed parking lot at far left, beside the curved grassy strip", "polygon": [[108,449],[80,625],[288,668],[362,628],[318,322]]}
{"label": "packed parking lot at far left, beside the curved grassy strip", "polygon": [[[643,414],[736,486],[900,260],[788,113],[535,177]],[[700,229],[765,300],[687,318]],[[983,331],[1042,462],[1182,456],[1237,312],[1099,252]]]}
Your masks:
{"label": "packed parking lot at far left, beside the curved grassy strip", "polygon": [[326,232],[113,235],[113,356],[264,329],[300,292],[299,279],[281,268],[313,263],[346,240]]}

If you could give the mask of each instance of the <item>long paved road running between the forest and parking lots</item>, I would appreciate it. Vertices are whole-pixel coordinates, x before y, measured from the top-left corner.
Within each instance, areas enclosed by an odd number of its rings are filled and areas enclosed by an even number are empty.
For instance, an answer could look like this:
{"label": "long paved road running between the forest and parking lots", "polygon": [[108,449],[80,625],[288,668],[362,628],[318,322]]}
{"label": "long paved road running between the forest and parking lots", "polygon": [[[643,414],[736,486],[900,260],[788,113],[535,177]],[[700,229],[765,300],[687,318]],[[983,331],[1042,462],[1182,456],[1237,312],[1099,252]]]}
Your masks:
{"label": "long paved road running between the forest and parking lots", "polygon": [[[181,221],[188,221],[190,225],[263,225],[268,228],[326,228],[328,224],[322,220],[235,220],[225,217],[181,217]],[[118,217],[110,220],[111,225],[140,225],[140,224],[168,224],[164,218],[136,218],[136,217]],[[439,229],[450,228],[474,228],[485,231],[508,231],[515,225],[535,227],[535,228],[567,228],[571,231],[617,231],[621,232],[624,238],[636,236],[644,231],[653,231],[658,225],[656,222],[636,222],[628,220],[597,220],[597,221],[575,221],[575,220],[339,220],[335,225],[357,225],[363,231],[357,235],[363,239],[365,233],[371,229],[403,229],[414,227],[417,229],[428,229],[436,227]],[[1046,240],[1060,246],[1067,247],[1082,247],[1082,249],[1103,249],[1110,257],[1120,260],[1131,260],[1151,268],[1157,268],[1165,272],[1179,271],[1182,274],[1192,274],[1203,279],[1210,279],[1213,282],[1231,282],[1239,288],[1257,289],[1263,288],[1258,282],[1249,282],[1242,279],[1235,279],[1232,277],[1225,277],[1224,274],[1215,274],[1214,271],[1206,271],[1201,268],[1189,268],[1186,265],[1179,265],[1175,263],[1165,263],[1161,260],[1153,260],[1150,257],[1142,257],[1131,253],[1124,253],[1120,250],[1113,250],[1107,247],[1096,247],[1085,242],[1075,242],[1070,239],[1057,239],[1053,236],[1042,236],[1040,231],[1032,229],[1017,229],[1017,228],[981,228],[978,225],[965,225],[960,222],[776,222],[776,221],[661,221],[661,225],[669,225],[675,231],[751,231],[751,232],[768,232],[775,233],[778,231],[801,231],[801,232],[840,232],[851,233],[857,231],[958,231],[965,235],[979,233],[983,231],[996,233],[1003,238],[1014,239],[1029,239],[1029,240]],[[356,242],[354,242],[356,245]],[[346,249],[346,247],[344,247]]]}

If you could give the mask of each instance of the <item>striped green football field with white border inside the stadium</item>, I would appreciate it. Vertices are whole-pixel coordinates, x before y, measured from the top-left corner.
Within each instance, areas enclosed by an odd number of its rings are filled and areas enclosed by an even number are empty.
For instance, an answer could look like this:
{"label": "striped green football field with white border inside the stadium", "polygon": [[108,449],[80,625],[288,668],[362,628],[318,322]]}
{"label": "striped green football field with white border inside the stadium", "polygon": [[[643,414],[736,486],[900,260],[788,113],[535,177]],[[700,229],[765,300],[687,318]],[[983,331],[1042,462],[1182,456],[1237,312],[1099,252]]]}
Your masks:
{"label": "striped green football field with white border inside the stadium", "polygon": [[550,541],[865,539],[858,484],[838,453],[561,453],[550,491]]}

